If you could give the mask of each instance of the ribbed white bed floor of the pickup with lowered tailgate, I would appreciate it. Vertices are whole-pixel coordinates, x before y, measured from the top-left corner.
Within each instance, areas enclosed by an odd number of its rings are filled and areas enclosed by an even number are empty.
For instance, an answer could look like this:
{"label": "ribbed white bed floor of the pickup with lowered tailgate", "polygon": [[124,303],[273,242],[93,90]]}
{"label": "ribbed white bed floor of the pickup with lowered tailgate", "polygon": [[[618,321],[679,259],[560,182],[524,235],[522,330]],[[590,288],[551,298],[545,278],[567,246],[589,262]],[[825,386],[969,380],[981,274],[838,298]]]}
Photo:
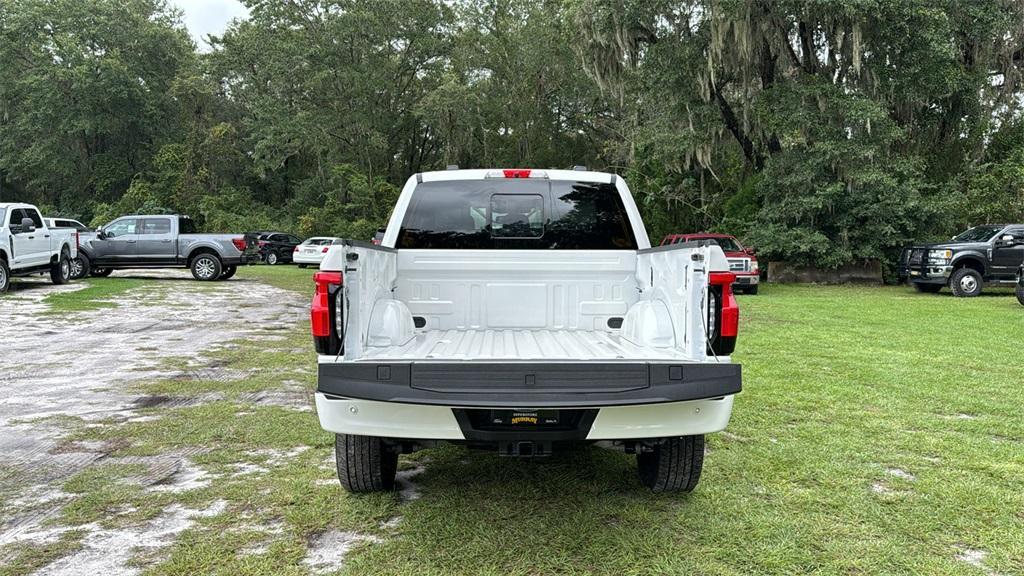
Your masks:
{"label": "ribbed white bed floor of the pickup with lowered tailgate", "polygon": [[686,361],[675,347],[634,344],[586,330],[426,330],[402,345],[367,346],[358,360],[382,361]]}

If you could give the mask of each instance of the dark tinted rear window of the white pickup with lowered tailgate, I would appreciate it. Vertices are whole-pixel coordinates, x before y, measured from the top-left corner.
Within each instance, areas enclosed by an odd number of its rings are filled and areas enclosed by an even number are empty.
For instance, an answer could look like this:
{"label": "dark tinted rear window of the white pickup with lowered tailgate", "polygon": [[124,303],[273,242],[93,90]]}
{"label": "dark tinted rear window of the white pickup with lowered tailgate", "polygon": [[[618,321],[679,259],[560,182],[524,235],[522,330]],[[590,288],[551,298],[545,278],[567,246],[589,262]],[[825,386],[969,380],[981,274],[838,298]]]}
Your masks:
{"label": "dark tinted rear window of the white pickup with lowered tailgate", "polygon": [[485,179],[416,187],[398,248],[635,250],[614,184]]}

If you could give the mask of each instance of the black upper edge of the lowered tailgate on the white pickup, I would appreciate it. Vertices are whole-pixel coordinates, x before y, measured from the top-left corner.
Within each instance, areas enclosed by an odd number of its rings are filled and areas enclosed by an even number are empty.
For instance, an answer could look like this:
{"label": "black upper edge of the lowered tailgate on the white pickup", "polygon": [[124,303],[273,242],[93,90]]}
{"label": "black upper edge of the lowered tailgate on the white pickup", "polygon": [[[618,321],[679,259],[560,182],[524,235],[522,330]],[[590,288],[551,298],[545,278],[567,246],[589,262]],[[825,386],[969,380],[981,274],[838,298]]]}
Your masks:
{"label": "black upper edge of the lowered tailgate on the white pickup", "polygon": [[322,363],[328,398],[487,408],[606,408],[705,400],[742,388],[723,363]]}

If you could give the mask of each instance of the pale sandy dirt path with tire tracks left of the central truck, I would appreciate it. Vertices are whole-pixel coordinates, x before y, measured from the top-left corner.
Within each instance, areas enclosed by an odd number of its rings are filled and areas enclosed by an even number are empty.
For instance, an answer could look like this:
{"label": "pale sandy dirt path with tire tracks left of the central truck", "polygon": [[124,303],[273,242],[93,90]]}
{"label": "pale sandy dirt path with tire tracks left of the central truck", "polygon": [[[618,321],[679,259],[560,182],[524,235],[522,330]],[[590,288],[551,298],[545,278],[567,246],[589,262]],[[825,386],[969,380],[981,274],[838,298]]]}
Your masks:
{"label": "pale sandy dirt path with tire tracks left of the central truck", "polygon": [[[0,324],[6,328],[0,331],[0,495],[6,500],[0,510],[0,546],[55,539],[59,529],[47,528],[45,521],[67,502],[60,483],[106,457],[101,446],[57,449],[63,434],[55,423],[60,416],[130,420],[139,417],[136,409],[144,402],[126,384],[182,374],[238,377],[219,373],[222,369],[210,366],[202,353],[240,338],[266,345],[260,340],[280,339],[276,334],[307,314],[298,294],[257,281],[199,283],[185,271],[119,276],[155,282],[122,294],[116,307],[62,316],[44,314],[44,298],[82,284],[19,282],[0,297]],[[162,455],[151,467],[165,478],[187,476],[186,458]],[[171,510],[164,522],[137,527],[126,536],[152,536],[153,542],[166,543],[189,519],[206,513]],[[91,548],[90,539],[95,544]],[[106,548],[115,550],[123,542],[97,530],[86,544],[87,551],[103,558]],[[78,574],[99,566],[57,563],[43,573]]]}

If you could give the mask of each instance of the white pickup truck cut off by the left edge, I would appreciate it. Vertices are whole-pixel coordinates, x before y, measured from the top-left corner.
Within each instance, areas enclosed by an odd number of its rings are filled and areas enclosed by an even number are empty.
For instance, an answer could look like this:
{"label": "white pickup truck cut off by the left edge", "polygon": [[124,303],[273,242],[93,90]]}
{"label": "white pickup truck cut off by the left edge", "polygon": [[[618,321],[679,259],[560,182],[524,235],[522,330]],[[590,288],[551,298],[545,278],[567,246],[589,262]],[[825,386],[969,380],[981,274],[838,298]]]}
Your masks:
{"label": "white pickup truck cut off by the left edge", "polygon": [[49,274],[65,284],[77,256],[78,232],[47,227],[31,204],[0,204],[0,293],[16,276]]}

